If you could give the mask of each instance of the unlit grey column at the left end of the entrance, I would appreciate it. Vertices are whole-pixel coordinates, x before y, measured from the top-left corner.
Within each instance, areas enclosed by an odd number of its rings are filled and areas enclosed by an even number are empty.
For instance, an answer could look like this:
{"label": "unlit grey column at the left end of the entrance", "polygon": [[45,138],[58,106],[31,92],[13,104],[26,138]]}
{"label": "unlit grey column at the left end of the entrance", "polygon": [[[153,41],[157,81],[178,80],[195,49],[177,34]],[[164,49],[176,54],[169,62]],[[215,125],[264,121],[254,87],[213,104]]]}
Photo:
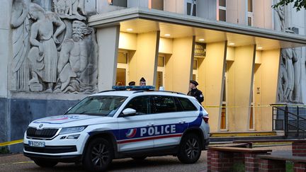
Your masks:
{"label": "unlit grey column at the left end of the entrance", "polygon": [[98,91],[115,85],[120,25],[98,28]]}

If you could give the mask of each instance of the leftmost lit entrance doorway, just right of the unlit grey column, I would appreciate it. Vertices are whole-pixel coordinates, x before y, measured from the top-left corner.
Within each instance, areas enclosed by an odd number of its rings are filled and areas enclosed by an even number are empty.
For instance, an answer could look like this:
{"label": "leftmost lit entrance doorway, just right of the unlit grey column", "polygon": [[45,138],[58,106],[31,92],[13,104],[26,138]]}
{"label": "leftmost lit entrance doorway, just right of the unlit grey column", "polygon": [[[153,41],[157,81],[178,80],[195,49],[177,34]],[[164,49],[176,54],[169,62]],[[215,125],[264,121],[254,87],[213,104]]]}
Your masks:
{"label": "leftmost lit entrance doorway, just right of the unlit grey column", "polygon": [[128,51],[119,50],[117,59],[116,86],[128,85]]}

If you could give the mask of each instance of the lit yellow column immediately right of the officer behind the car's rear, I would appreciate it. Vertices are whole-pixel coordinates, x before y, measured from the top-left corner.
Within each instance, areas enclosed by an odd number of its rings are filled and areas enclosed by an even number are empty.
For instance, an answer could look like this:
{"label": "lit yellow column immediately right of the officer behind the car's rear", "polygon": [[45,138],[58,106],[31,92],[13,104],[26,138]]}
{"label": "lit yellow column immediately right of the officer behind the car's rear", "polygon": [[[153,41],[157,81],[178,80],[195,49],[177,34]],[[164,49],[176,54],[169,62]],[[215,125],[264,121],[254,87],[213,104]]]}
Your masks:
{"label": "lit yellow column immediately right of the officer behind the car's rear", "polygon": [[[198,88],[203,92],[203,105],[222,105],[222,86],[227,42],[206,45],[206,57],[198,63]],[[205,108],[210,115],[210,130],[220,130],[220,108]]]}

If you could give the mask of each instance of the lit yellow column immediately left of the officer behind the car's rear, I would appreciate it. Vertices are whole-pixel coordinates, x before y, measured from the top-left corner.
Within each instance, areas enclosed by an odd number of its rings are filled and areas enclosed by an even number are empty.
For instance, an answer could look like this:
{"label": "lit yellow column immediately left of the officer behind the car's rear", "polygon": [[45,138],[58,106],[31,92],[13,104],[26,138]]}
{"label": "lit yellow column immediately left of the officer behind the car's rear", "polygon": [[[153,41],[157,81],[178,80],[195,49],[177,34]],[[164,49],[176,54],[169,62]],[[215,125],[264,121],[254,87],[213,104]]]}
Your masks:
{"label": "lit yellow column immediately left of the officer behind the car's rear", "polygon": [[166,87],[169,91],[188,93],[192,76],[195,37],[175,38],[173,54],[166,62]]}

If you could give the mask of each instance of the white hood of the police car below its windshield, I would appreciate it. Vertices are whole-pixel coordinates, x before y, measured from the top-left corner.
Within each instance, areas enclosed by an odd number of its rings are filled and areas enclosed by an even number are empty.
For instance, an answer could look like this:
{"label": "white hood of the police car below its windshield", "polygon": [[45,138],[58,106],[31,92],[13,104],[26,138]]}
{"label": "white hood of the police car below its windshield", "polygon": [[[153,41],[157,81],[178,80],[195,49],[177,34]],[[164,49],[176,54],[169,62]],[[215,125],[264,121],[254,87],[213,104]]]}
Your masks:
{"label": "white hood of the police car below its windshield", "polygon": [[30,123],[31,127],[74,127],[81,125],[94,125],[101,122],[113,122],[113,117],[103,117],[94,115],[57,115],[52,117],[44,117]]}

